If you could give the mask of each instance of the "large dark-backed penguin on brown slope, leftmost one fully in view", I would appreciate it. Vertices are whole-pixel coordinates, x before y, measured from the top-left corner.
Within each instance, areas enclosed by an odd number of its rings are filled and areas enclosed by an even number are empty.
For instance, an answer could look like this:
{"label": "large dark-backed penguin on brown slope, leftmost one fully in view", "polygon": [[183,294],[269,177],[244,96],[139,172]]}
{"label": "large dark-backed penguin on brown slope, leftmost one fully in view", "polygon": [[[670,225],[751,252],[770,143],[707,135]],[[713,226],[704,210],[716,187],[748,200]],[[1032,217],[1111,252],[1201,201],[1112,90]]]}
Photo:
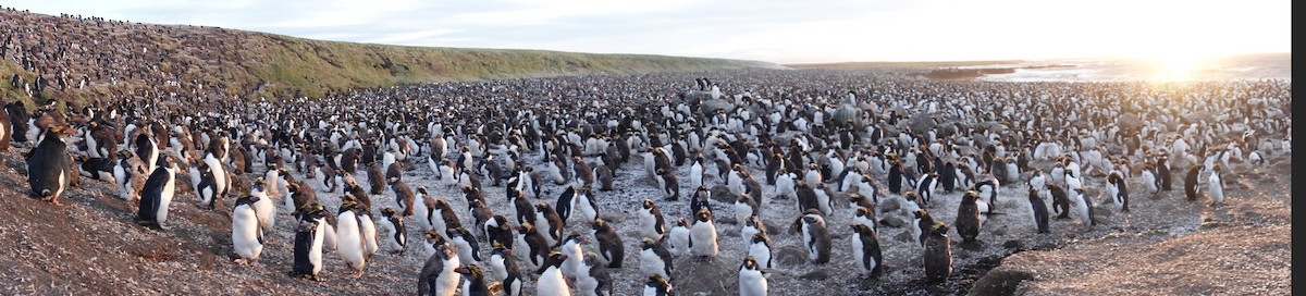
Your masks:
{"label": "large dark-backed penguin on brown slope, leftmost one fully in view", "polygon": [[[73,179],[69,171],[72,164],[68,158],[68,143],[64,142],[64,137],[72,133],[73,129],[63,125],[46,128],[40,141],[31,149],[26,159],[27,185],[31,186],[31,196],[50,201],[55,206],[63,206],[59,197],[64,194]],[[168,198],[171,198],[171,192]]]}

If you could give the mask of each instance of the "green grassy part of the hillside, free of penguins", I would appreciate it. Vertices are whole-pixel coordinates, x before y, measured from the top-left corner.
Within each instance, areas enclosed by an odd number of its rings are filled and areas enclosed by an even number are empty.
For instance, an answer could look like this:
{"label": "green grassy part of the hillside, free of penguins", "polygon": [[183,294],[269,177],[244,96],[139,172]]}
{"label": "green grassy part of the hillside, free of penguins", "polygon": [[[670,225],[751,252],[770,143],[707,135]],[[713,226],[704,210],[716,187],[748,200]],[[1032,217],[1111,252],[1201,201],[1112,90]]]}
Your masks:
{"label": "green grassy part of the hillside, free of penguins", "polygon": [[[236,33],[242,34],[242,33]],[[388,87],[404,83],[555,77],[586,73],[701,72],[768,63],[656,55],[599,55],[537,50],[404,47],[324,42],[243,33],[239,67],[227,90],[266,83],[251,98],[316,98],[332,90]]]}

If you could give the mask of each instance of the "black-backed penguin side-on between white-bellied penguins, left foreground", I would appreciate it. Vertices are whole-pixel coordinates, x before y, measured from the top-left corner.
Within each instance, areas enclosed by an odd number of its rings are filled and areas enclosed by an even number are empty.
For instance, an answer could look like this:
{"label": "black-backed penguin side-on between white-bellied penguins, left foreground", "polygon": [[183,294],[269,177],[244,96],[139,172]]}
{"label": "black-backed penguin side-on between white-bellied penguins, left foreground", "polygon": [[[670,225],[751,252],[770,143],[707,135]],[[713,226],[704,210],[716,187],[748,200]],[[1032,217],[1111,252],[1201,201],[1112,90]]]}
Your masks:
{"label": "black-backed penguin side-on between white-bellied penguins, left foreground", "polygon": [[316,202],[293,214],[295,227],[294,261],[290,275],[317,279],[323,269],[323,240],[326,232],[326,209]]}

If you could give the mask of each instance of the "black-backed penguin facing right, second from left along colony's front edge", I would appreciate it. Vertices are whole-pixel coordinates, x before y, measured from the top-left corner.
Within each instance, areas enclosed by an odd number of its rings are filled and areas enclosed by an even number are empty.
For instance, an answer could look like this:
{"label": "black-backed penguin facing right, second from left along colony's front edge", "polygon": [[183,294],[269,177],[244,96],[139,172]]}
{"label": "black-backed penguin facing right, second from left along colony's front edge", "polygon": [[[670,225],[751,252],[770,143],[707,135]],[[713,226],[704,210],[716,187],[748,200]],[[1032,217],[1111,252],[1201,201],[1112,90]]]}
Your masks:
{"label": "black-backed penguin facing right, second from left along colony's front edge", "polygon": [[172,196],[176,193],[178,168],[172,155],[166,155],[159,162],[150,177],[145,179],[145,186],[141,189],[141,203],[136,211],[136,223],[154,229],[163,229],[168,205],[172,203]]}

